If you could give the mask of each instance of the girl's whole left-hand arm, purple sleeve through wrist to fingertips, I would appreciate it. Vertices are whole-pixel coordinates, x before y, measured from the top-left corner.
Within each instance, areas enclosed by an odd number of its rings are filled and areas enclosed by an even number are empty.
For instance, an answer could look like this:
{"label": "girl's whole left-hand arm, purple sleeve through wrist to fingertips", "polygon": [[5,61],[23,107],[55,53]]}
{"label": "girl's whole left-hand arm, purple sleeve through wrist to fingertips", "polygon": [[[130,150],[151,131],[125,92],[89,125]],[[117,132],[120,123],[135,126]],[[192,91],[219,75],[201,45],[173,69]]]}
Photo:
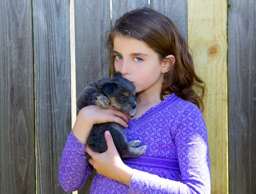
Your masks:
{"label": "girl's whole left-hand arm, purple sleeve through wrist to fingertips", "polygon": [[64,191],[79,190],[91,174],[93,166],[86,159],[85,145],[93,125],[116,122],[127,127],[128,117],[111,105],[107,110],[91,105],[79,111],[61,157],[59,182]]}

